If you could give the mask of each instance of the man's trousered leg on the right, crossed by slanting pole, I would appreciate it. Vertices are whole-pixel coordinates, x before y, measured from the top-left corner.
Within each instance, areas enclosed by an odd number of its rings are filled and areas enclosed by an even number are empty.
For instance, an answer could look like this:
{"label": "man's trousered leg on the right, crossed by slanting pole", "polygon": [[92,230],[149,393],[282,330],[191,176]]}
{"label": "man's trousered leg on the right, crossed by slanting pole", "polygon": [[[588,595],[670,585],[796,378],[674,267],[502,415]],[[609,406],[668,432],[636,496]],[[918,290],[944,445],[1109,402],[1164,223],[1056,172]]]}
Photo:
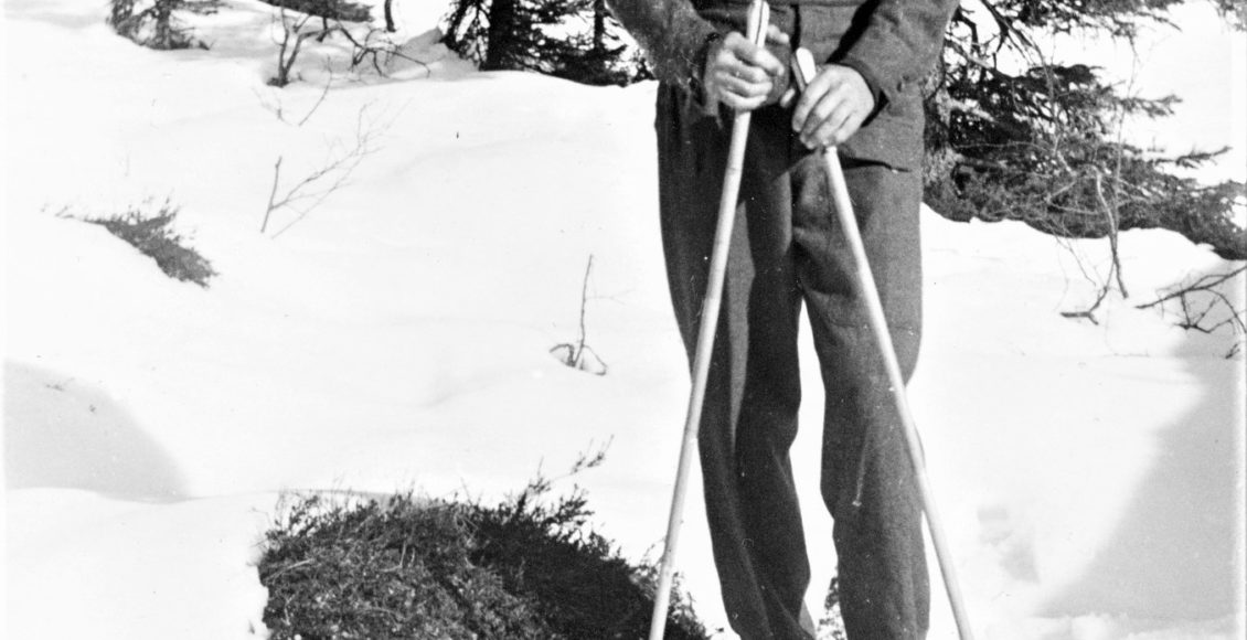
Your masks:
{"label": "man's trousered leg on the right, crossed by slanting pole", "polygon": [[[827,389],[822,488],[835,520],[845,630],[854,640],[919,639],[929,586],[913,467],[822,162],[811,156],[794,170],[794,241]],[[844,167],[908,381],[920,334],[920,177],[878,163]]]}

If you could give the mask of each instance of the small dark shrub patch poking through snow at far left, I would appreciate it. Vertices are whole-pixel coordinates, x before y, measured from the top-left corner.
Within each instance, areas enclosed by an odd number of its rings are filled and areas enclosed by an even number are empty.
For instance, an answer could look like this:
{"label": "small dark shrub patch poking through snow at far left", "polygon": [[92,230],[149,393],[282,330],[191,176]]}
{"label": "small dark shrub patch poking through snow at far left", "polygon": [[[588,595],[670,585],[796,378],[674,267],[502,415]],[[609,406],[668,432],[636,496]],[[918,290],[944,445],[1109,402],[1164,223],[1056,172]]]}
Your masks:
{"label": "small dark shrub patch poking through snow at far left", "polygon": [[125,213],[107,218],[84,218],[84,221],[100,225],[113,236],[128,242],[155,259],[166,276],[207,288],[208,279],[217,272],[203,256],[186,246],[185,237],[173,231],[178,211],[177,206],[166,200],[156,213],[146,213],[142,208],[131,206]]}

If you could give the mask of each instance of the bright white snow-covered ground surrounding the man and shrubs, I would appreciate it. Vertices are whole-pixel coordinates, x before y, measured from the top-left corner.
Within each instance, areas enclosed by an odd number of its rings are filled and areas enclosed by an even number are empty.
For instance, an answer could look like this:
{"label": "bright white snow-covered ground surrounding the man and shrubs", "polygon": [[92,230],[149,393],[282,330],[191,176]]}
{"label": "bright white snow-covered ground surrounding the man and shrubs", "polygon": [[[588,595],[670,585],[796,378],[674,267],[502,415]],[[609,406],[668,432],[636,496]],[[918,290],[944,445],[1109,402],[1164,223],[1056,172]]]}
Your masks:
{"label": "bright white snow-covered ground surrounding the man and shrubs", "polygon": [[[657,240],[655,87],[478,74],[423,37],[424,64],[390,81],[337,59],[299,126],[340,42],[308,42],[306,81],[271,89],[271,9],[226,5],[196,21],[211,51],[158,52],[115,36],[101,1],[5,0],[5,638],[263,636],[253,563],[283,492],[493,499],[605,443],[602,467],[556,488],[587,488],[606,535],[656,553],[687,373]],[[398,2],[407,36],[433,5]],[[1241,55],[1210,15],[1201,46]],[[1221,119],[1237,127],[1221,142],[1242,142],[1236,100],[1198,127]],[[350,182],[261,235],[278,157],[288,188],[360,122],[378,145]],[[221,273],[208,289],[66,217],[166,197]],[[1131,298],[1092,324],[1060,312],[1094,298],[1102,242],[923,225],[912,397],[979,636],[1242,638],[1243,359],[1223,357],[1228,333],[1134,308],[1232,264],[1126,233]],[[604,377],[549,353],[577,337],[590,256]],[[1227,291],[1242,303],[1241,278]],[[826,584],[817,372],[807,388],[794,453]],[[681,568],[722,626],[698,490]],[[934,618],[932,638],[953,636],[938,588]]]}

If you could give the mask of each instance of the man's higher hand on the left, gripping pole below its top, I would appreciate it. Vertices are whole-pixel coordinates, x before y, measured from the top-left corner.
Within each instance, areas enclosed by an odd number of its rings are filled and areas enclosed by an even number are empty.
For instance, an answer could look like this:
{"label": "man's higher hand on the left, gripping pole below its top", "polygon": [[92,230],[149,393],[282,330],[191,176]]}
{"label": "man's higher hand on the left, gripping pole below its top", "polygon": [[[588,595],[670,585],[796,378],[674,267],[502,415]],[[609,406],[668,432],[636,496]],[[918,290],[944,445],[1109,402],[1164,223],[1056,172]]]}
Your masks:
{"label": "man's higher hand on the left, gripping pole below its top", "polygon": [[[788,35],[768,25],[767,41],[786,46]],[[711,110],[723,104],[736,111],[752,111],[776,102],[787,86],[787,66],[774,54],[732,31],[712,42],[706,52],[702,74],[706,105]]]}

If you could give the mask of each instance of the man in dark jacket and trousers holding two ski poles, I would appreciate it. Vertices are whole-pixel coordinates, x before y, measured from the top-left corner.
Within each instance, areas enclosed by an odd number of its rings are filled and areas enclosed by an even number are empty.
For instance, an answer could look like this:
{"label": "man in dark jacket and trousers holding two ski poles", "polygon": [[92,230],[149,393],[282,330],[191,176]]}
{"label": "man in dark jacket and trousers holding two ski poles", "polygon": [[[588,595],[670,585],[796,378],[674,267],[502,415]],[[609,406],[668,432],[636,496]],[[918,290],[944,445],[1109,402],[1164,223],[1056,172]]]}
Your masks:
{"label": "man in dark jacket and trousers holding two ski poles", "polygon": [[[839,147],[908,379],[920,331],[919,84],[956,0],[771,4],[767,46],[756,47],[741,35],[747,0],[612,0],[662,81],[662,238],[690,362],[727,165],[731,119],[721,116],[753,111],[698,440],[723,603],[746,640],[811,638],[788,458],[804,303],[827,390],[822,493],[845,629],[853,640],[923,638],[929,586],[913,469],[814,150]],[[782,96],[798,46],[826,65],[791,105]]]}

